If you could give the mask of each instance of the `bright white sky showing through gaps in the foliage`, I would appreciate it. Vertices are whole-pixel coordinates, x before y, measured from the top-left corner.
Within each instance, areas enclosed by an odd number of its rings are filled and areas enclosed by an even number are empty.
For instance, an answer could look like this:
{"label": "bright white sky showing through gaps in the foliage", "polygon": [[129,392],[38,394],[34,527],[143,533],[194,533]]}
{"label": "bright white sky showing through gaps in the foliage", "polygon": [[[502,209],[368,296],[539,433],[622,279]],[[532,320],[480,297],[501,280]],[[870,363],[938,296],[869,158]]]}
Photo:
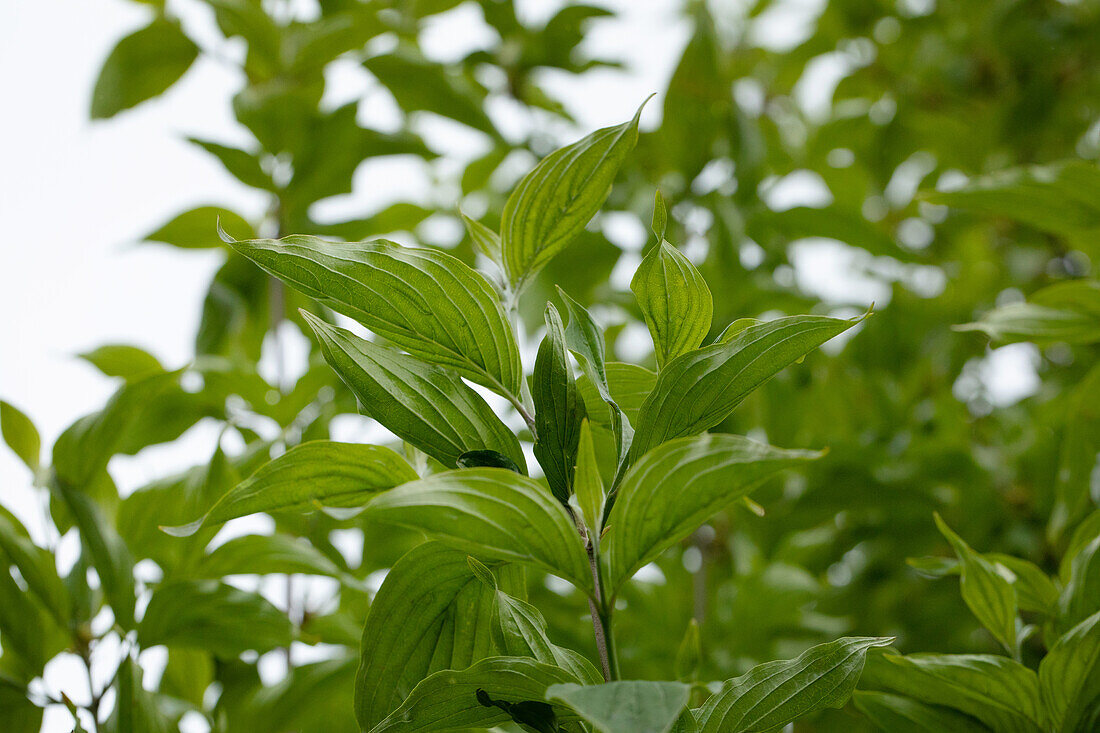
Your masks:
{"label": "bright white sky showing through gaps in the foliage", "polygon": [[[542,18],[556,0],[521,2]],[[582,79],[553,79],[569,89],[568,106],[583,131],[626,119],[640,100],[664,88],[690,29],[679,0],[614,0],[600,4],[620,17],[593,24],[586,43],[600,56],[627,63],[628,73],[593,72]],[[784,0],[766,13],[758,34],[768,44],[791,43],[807,29],[820,0]],[[185,24],[213,45],[217,33],[195,0],[169,0]],[[114,389],[76,353],[102,343],[133,343],[169,366],[191,354],[205,287],[220,263],[216,252],[180,252],[136,244],[167,218],[196,205],[222,204],[254,216],[262,196],[237,184],[217,162],[183,138],[244,143],[229,100],[240,79],[229,67],[204,59],[166,96],[119,117],[91,122],[88,108],[100,63],[114,43],[147,22],[148,10],[122,0],[15,0],[0,3],[0,397],[26,412],[50,446],[76,417],[102,406]],[[454,58],[492,39],[480,10],[465,3],[430,25],[427,51]],[[232,48],[230,51],[233,51]],[[800,101],[811,112],[827,109],[837,63],[814,70]],[[389,125],[395,109],[385,92],[372,90],[370,76],[353,63],[330,77],[327,102],[363,97],[361,117]],[[364,96],[365,95],[365,96]],[[565,95],[562,95],[565,97]],[[661,99],[650,102],[644,128],[659,123]],[[507,130],[508,110],[491,110]],[[437,129],[438,128],[438,129]],[[426,128],[444,149],[459,149],[454,125]],[[328,201],[319,212],[361,216],[405,195],[422,197],[422,169],[388,163],[363,166],[352,196]],[[811,186],[812,188],[812,186]],[[792,185],[794,198],[806,188]],[[800,193],[801,192],[801,193]],[[774,192],[773,192],[774,193]],[[813,193],[812,190],[810,192]],[[812,198],[812,197],[811,197]],[[850,251],[803,247],[795,253],[800,281],[828,296],[850,272]],[[799,260],[802,263],[799,263]],[[851,281],[873,299],[876,283]],[[842,289],[844,289],[842,287]],[[881,303],[881,300],[880,300]],[[1034,391],[1035,354],[1028,347],[1000,349],[987,369],[1002,380],[1011,402]],[[992,362],[991,362],[992,363]],[[123,490],[209,456],[210,431],[189,438],[195,449],[153,451],[139,460],[112,462]],[[196,442],[197,441],[197,442]],[[199,450],[199,446],[201,450]],[[14,457],[0,450],[0,495],[32,532],[41,528],[28,491],[28,477]],[[13,501],[14,500],[14,501]],[[40,526],[35,526],[38,522]],[[62,664],[59,680],[75,670]],[[65,683],[66,682],[59,682]],[[65,713],[48,715],[50,731],[69,730]]]}

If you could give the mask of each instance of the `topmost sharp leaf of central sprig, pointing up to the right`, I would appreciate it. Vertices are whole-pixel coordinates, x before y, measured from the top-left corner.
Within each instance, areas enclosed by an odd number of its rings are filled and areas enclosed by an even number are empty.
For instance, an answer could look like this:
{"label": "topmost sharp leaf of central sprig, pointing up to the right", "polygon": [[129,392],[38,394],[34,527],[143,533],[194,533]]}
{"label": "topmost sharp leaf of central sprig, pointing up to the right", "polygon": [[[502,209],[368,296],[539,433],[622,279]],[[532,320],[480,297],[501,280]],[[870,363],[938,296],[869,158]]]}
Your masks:
{"label": "topmost sharp leaf of central sprig, pointing up to the right", "polygon": [[504,205],[501,250],[513,289],[569,247],[604,205],[612,183],[638,141],[638,118],[604,128],[542,158]]}

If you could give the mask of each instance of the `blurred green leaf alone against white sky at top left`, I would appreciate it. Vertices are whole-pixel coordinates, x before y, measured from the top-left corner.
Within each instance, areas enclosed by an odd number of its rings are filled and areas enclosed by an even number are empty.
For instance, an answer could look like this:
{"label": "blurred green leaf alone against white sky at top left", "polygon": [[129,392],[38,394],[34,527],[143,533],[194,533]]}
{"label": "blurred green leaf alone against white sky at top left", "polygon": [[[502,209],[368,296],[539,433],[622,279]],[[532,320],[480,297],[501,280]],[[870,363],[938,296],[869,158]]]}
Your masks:
{"label": "blurred green leaf alone against white sky at top left", "polygon": [[99,70],[91,94],[91,118],[113,117],[163,94],[199,55],[179,23],[157,15],[119,41]]}

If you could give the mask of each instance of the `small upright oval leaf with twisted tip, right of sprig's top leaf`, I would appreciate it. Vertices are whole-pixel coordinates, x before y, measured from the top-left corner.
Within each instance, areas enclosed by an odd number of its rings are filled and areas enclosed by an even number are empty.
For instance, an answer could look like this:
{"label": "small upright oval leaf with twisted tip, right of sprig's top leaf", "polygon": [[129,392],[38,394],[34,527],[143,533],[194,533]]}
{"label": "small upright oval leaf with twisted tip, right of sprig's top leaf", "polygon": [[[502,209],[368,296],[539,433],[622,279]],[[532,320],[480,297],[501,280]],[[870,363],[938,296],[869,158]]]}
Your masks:
{"label": "small upright oval leaf with twisted tip, right of sprig's top leaf", "polygon": [[638,265],[630,289],[653,337],[658,370],[697,349],[710,332],[711,288],[695,265],[664,240]]}

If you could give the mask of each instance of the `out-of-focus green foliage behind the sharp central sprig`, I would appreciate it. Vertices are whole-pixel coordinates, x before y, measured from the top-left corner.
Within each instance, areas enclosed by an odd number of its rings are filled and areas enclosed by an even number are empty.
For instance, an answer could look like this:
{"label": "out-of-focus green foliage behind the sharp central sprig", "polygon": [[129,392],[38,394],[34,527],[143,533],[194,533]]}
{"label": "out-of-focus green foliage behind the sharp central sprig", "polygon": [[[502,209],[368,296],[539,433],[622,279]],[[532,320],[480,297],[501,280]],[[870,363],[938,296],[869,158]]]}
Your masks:
{"label": "out-of-focus green foliage behind the sharp central sprig", "polygon": [[[64,704],[91,730],[92,716],[105,731],[170,730],[188,711],[215,731],[356,730],[351,685],[370,579],[418,536],[339,513],[276,514],[275,534],[257,536],[234,565],[229,550],[208,548],[213,529],[187,539],[157,529],[191,522],[272,456],[330,437],[334,418],[356,413],[316,344],[300,375],[280,366],[280,342],[311,333],[299,308],[327,317],[324,308],[224,248],[217,226],[238,238],[388,236],[483,261],[475,252],[484,244],[440,241],[430,225],[461,229],[461,206],[499,229],[515,163],[587,132],[575,124],[580,110],[551,87],[593,68],[618,73],[616,59],[591,56],[584,40],[597,23],[619,21],[602,7],[570,4],[532,24],[510,0],[194,0],[219,36],[198,42],[177,3],[142,4],[148,23],[107,57],[91,117],[124,114],[194,64],[228,62],[241,72],[231,101],[250,142],[191,141],[270,205],[253,218],[207,201],[147,236],[224,252],[191,363],[168,371],[119,344],[86,354],[118,392],[74,423],[48,460],[33,423],[0,406],[4,439],[48,519],[32,543],[0,511],[0,555],[11,568],[0,573],[0,719],[7,730],[34,731],[43,705]],[[560,304],[560,285],[595,306],[608,359],[637,361],[642,314],[618,274],[632,273],[641,253],[615,222],[649,221],[654,188],[668,201],[667,239],[710,285],[712,336],[740,318],[857,315],[876,294],[858,336],[780,374],[719,428],[829,452],[757,493],[762,517],[748,507],[721,514],[625,589],[619,655],[637,679],[673,676],[692,619],[693,675],[704,681],[846,633],[895,636],[905,653],[994,653],[994,636],[955,589],[906,565],[950,553],[933,513],[970,546],[1027,560],[1067,588],[1066,568],[1100,534],[1100,6],[829,0],[804,29],[789,29],[796,37],[769,41],[768,28],[792,18],[793,4],[685,3],[689,41],[642,117],[604,214],[520,304],[534,335],[546,303]],[[433,59],[422,31],[451,22],[459,6],[477,10],[493,40],[458,61]],[[327,70],[349,59],[374,80],[370,94],[392,97],[398,127],[375,125],[361,103],[322,103]],[[517,110],[520,132],[502,123]],[[440,147],[424,123],[432,118],[462,125],[481,147]],[[317,216],[315,204],[351,192],[360,165],[383,156],[418,161],[436,189],[348,220]],[[824,271],[839,282],[823,282],[823,253],[842,263]],[[1010,341],[1021,342],[1009,349],[1037,376],[1022,400],[997,390],[1007,352],[992,347]],[[656,365],[651,353],[642,358]],[[200,422],[221,427],[208,460],[119,495],[113,456],[172,442]],[[348,530],[365,538],[351,558],[338,541]],[[54,553],[69,532],[79,553],[58,568]],[[218,551],[226,565],[215,561]],[[135,573],[146,561],[155,571]],[[210,565],[255,568],[265,593],[222,582],[233,573]],[[284,575],[332,580],[323,593],[290,583],[279,598],[272,589]],[[528,584],[550,636],[594,652],[583,599],[534,573]],[[156,609],[176,611],[153,624]],[[107,637],[121,639],[121,652]],[[1034,667],[1056,639],[1027,636],[1021,658]],[[155,691],[139,683],[146,644],[168,648]],[[299,644],[333,646],[307,655]],[[132,701],[132,714],[112,714],[105,689],[72,701],[29,690],[63,650],[88,664],[113,654],[102,664],[119,665],[110,688]],[[285,654],[293,668],[265,686],[257,654]],[[875,718],[875,700],[860,700]],[[867,726],[848,709],[798,730]]]}

